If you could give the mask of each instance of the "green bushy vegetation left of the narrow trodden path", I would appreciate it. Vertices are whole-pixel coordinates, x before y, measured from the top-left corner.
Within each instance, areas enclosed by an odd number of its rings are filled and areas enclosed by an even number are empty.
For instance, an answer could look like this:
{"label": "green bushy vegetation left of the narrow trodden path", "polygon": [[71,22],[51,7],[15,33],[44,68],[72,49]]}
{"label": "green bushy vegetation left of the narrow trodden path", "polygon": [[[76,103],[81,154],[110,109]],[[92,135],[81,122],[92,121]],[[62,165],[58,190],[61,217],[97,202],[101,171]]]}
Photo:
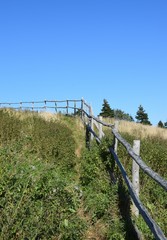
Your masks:
{"label": "green bushy vegetation left of the narrow trodden path", "polygon": [[0,111],[0,239],[81,239],[70,121]]}

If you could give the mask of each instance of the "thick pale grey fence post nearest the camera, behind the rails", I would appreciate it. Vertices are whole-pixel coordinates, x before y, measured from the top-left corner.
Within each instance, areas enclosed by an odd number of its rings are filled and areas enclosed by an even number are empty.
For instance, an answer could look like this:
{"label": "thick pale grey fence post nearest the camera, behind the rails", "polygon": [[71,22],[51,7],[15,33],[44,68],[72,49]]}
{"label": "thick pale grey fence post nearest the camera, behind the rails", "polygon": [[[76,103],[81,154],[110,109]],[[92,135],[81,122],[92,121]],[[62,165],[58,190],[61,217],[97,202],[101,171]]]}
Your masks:
{"label": "thick pale grey fence post nearest the camera, behind the rails", "polygon": [[[133,151],[138,156],[140,155],[140,140],[134,140],[133,141]],[[132,184],[133,184],[133,188],[134,188],[137,196],[139,196],[139,188],[140,188],[140,186],[139,186],[139,165],[134,160],[132,162]],[[139,210],[135,206],[134,203],[133,203],[133,206],[132,206],[132,213],[136,217],[139,216]]]}

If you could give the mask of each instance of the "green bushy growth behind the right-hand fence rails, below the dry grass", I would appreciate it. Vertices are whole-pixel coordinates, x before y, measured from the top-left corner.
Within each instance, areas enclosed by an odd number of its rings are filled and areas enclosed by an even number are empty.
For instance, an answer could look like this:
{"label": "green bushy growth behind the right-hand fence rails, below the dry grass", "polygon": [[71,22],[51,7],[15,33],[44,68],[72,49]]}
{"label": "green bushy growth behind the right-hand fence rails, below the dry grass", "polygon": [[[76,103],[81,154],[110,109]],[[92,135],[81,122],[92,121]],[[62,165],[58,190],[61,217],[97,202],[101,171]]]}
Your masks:
{"label": "green bushy growth behind the right-hand fence rails, below the dry grass", "polygon": [[[128,133],[122,132],[121,135],[131,144],[133,144],[133,140],[136,139],[136,136],[132,134],[129,135]],[[131,176],[132,162],[130,161],[130,157],[126,154],[124,147],[121,145],[118,148],[118,155],[128,172],[128,176]],[[167,179],[165,170],[167,167],[166,140],[164,141],[160,137],[143,138],[141,141],[140,155],[148,166],[150,166],[154,171],[158,172],[162,177]],[[164,234],[167,235],[167,192],[165,192],[162,187],[148,177],[142,170],[140,170],[140,199],[148,209],[152,218],[161,227]],[[138,219],[135,219],[135,222],[144,235],[144,239],[154,239],[141,216]]]}

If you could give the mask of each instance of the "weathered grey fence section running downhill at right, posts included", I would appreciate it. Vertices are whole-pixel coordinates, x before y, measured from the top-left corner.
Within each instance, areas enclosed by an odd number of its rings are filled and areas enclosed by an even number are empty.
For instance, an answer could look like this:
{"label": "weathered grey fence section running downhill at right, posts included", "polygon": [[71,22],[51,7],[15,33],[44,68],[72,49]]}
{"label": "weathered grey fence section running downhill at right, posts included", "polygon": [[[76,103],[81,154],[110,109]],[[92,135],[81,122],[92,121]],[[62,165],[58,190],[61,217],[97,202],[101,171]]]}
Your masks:
{"label": "weathered grey fence section running downhill at right, posts included", "polygon": [[[134,140],[133,148],[131,145],[118,133],[118,122],[115,124],[108,124],[102,121],[101,118],[96,118],[92,115],[92,111],[84,112],[87,117],[85,122],[88,131],[91,133],[90,139],[95,138],[98,143],[101,143],[101,138],[104,136],[102,131],[102,126],[111,128],[111,133],[114,135],[114,146],[109,148],[110,153],[115,159],[117,166],[119,167],[122,177],[128,187],[130,196],[134,203],[132,208],[133,213],[138,216],[140,213],[144,221],[150,228],[151,232],[154,234],[155,239],[157,240],[167,240],[163,231],[150,216],[148,210],[145,208],[144,204],[139,199],[139,168],[141,168],[149,177],[159,184],[164,191],[167,191],[167,181],[163,179],[158,173],[154,172],[150,167],[148,167],[145,162],[139,156],[140,141]],[[98,134],[94,131],[94,125],[98,129]],[[118,142],[120,142],[127,150],[128,154],[133,159],[132,164],[132,182],[130,181],[126,170],[124,169],[121,161],[117,156]]]}

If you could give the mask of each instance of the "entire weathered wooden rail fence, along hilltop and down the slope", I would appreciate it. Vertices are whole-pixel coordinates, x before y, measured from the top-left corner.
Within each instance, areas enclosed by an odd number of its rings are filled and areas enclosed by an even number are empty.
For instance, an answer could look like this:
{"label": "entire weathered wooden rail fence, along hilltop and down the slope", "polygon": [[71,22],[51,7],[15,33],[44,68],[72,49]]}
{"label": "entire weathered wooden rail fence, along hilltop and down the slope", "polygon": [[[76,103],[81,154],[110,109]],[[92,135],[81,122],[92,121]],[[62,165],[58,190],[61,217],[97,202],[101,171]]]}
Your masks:
{"label": "entire weathered wooden rail fence, along hilltop and down the slope", "polygon": [[[80,114],[83,123],[86,126],[87,131],[90,132],[90,140],[95,138],[98,143],[101,143],[101,138],[104,136],[102,127],[109,127],[111,133],[114,136],[114,146],[109,148],[109,152],[115,159],[117,166],[120,169],[122,177],[128,187],[130,196],[134,203],[133,212],[136,216],[140,213],[145,220],[146,224],[150,228],[151,232],[154,234],[157,240],[167,240],[164,233],[158,224],[152,219],[148,210],[145,208],[143,203],[139,199],[139,168],[141,168],[149,177],[159,184],[164,191],[167,191],[167,181],[163,179],[158,173],[154,172],[150,167],[148,167],[145,162],[139,156],[140,141],[135,140],[133,148],[131,145],[118,133],[118,123],[108,124],[102,121],[99,117],[94,117],[92,108],[89,104],[85,102],[84,99],[81,100],[63,100],[63,101],[38,101],[38,102],[16,102],[16,103],[0,103],[2,108],[14,108],[18,110],[32,110],[32,111],[46,111],[53,110],[54,112],[59,112],[63,110],[62,113],[65,114]],[[98,133],[95,133],[94,126],[98,129]],[[117,156],[118,142],[120,142],[127,150],[128,154],[133,159],[133,176],[132,182],[130,181],[126,170],[124,169],[121,161]]]}

